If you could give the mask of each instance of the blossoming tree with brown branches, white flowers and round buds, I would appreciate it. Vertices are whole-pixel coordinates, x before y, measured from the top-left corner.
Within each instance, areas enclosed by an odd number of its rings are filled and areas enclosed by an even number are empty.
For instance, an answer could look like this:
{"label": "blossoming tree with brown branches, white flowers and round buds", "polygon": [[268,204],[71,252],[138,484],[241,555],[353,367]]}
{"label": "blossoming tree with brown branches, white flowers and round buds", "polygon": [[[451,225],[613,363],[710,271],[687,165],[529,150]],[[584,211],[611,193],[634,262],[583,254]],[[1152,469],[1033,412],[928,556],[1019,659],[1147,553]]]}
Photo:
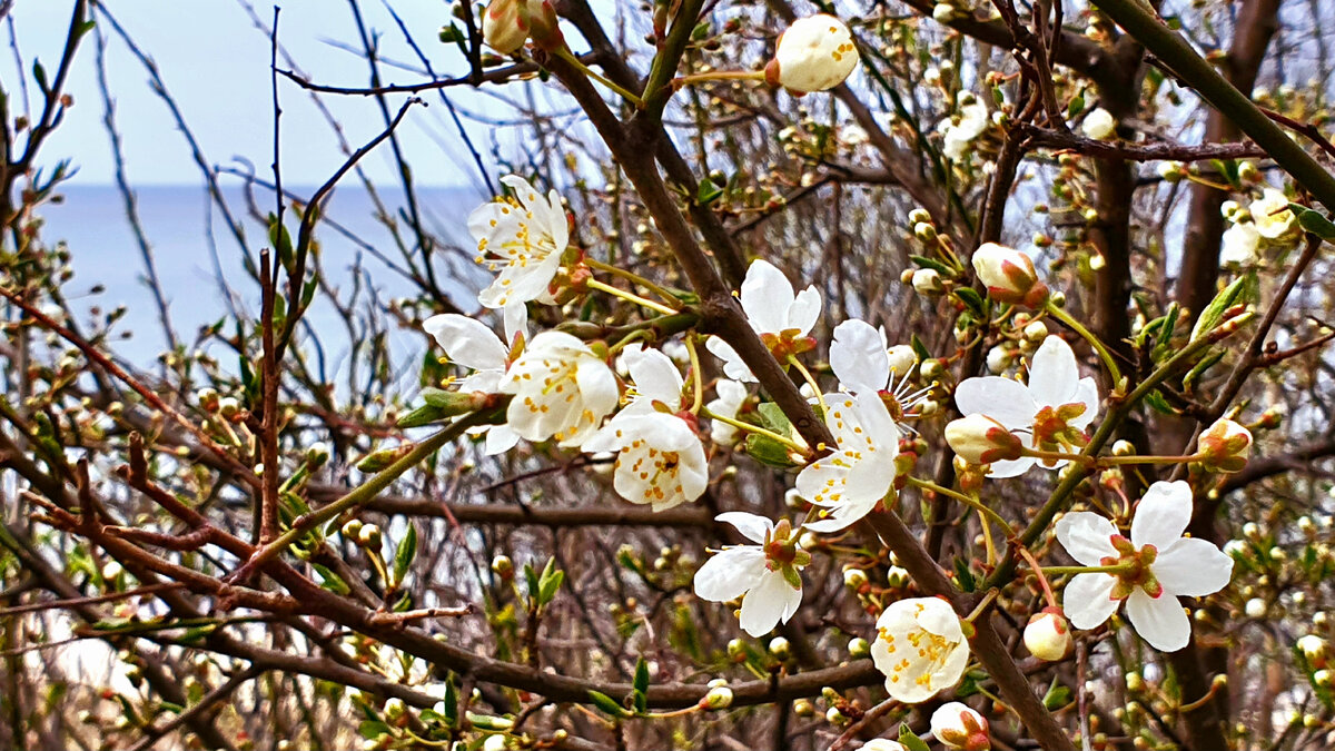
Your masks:
{"label": "blossoming tree with brown branches, white flowers and round buds", "polygon": [[[259,309],[203,334],[238,371],[150,376],[5,172],[5,653],[68,609],[139,682],[84,722],[136,748],[1323,747],[1335,150],[1251,96],[1276,3],[1227,75],[1077,5],[455,3],[449,75],[288,72],[559,103],[526,167],[474,148],[457,289],[395,235],[409,366],[358,362],[326,188],[243,243]],[[12,695],[16,744],[85,738]]]}

